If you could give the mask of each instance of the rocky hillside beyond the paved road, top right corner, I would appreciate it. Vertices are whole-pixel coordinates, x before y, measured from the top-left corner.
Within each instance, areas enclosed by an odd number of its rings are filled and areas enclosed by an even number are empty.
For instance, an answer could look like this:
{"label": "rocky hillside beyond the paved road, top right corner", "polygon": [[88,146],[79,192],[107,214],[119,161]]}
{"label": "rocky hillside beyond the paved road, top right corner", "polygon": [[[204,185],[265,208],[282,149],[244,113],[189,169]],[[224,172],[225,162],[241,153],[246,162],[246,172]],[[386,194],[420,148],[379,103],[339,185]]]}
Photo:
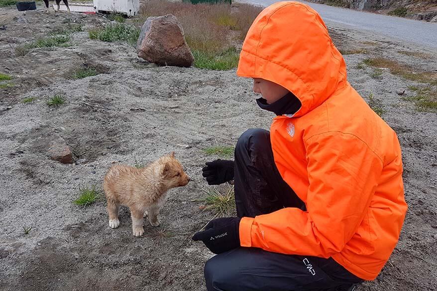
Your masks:
{"label": "rocky hillside beyond the paved road, top right corner", "polygon": [[334,6],[374,11],[437,22],[437,0],[311,0]]}

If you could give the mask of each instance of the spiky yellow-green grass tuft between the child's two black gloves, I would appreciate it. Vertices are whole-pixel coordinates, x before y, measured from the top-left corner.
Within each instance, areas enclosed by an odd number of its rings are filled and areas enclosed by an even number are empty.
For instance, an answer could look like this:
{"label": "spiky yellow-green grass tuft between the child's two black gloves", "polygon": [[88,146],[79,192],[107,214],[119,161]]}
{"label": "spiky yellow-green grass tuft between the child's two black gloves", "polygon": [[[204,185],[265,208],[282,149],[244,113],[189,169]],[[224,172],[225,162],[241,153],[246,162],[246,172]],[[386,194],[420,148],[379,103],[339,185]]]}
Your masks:
{"label": "spiky yellow-green grass tuft between the child's two black gloves", "polygon": [[235,215],[235,195],[233,186],[227,184],[227,189],[220,192],[217,187],[209,190],[202,189],[207,196],[203,200],[204,210],[210,210],[215,213],[216,217],[225,217]]}

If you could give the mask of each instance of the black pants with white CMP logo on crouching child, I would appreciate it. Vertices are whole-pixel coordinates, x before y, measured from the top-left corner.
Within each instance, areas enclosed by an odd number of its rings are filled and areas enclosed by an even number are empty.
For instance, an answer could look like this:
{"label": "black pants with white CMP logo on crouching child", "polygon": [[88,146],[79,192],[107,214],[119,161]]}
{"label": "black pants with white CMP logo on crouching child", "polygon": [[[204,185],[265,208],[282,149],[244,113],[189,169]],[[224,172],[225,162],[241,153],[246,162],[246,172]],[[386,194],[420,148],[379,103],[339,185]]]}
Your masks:
{"label": "black pants with white CMP logo on crouching child", "polygon": [[[239,217],[255,217],[305,204],[282,179],[273,160],[270,133],[249,129],[235,147],[235,202]],[[333,259],[237,248],[205,265],[208,291],[350,290],[362,280]]]}

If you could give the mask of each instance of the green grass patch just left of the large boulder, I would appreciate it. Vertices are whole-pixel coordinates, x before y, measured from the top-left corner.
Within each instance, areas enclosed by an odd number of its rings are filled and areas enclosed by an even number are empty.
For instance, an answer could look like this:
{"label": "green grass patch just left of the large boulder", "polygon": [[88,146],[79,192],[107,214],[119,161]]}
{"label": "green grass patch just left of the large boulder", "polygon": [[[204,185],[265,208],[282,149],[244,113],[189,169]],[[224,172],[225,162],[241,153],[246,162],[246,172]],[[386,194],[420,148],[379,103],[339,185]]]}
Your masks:
{"label": "green grass patch just left of the large boulder", "polygon": [[122,41],[135,45],[139,37],[140,29],[128,24],[114,23],[103,28],[95,28],[89,31],[91,39],[101,41]]}

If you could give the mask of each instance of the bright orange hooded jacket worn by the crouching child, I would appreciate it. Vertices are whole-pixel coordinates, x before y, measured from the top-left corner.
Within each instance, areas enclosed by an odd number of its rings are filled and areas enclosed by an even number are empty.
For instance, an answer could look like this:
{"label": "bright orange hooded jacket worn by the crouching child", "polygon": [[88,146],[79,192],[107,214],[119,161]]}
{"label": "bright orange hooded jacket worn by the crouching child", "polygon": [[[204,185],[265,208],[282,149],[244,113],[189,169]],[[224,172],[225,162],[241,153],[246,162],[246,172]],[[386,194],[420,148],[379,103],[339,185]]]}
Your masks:
{"label": "bright orange hooded jacket worn by the crouching child", "polygon": [[244,40],[237,75],[275,82],[301,100],[293,116],[274,118],[271,143],[281,176],[307,206],[243,217],[241,246],[332,257],[375,279],[407,211],[401,149],[347,82],[320,15],[299,2],[264,9]]}

